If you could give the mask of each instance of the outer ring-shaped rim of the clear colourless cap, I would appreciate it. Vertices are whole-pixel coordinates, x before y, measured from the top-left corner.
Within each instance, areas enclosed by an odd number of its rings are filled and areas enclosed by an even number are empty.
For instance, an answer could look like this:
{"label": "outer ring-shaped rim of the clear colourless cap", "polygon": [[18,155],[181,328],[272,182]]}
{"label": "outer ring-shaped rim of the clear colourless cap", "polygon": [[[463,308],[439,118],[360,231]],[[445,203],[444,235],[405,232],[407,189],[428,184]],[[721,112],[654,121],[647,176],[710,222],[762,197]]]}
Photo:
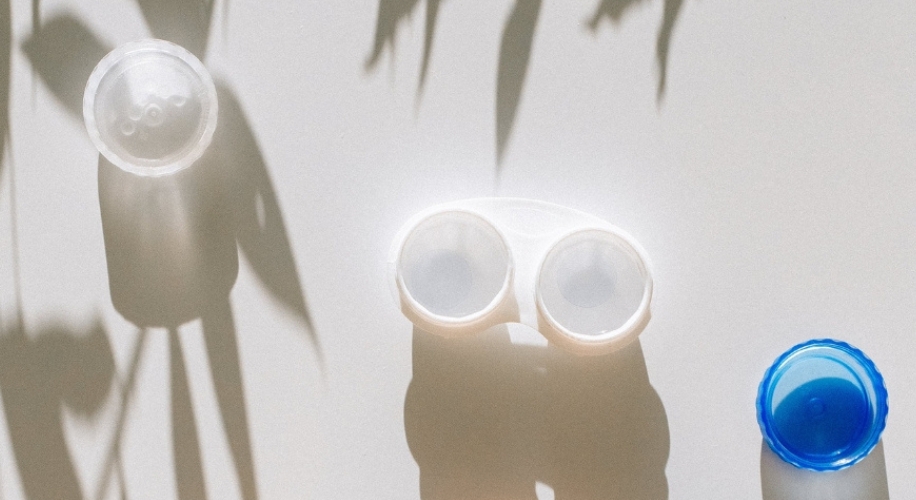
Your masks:
{"label": "outer ring-shaped rim of the clear colourless cap", "polygon": [[[162,165],[157,165],[157,161],[155,160],[143,161],[142,159],[133,157],[127,159],[115,153],[102,140],[102,134],[99,132],[98,123],[95,119],[96,93],[105,75],[122,59],[142,51],[165,53],[187,64],[200,78],[206,89],[206,97],[210,101],[209,109],[204,117],[206,125],[197,140],[197,144],[184,155]],[[213,140],[213,134],[216,131],[218,109],[219,103],[216,95],[216,85],[213,83],[213,78],[210,76],[210,73],[207,71],[206,67],[204,67],[200,59],[180,45],[156,38],[127,42],[105,55],[105,57],[95,66],[95,69],[92,70],[92,74],[89,75],[89,80],[86,82],[86,90],[83,93],[83,120],[86,124],[89,138],[92,140],[96,149],[99,150],[99,153],[122,170],[148,177],[168,175],[183,170],[200,159],[207,147],[210,146],[210,142]],[[139,162],[139,164],[136,162]],[[144,163],[146,163],[146,165],[144,165]]]}

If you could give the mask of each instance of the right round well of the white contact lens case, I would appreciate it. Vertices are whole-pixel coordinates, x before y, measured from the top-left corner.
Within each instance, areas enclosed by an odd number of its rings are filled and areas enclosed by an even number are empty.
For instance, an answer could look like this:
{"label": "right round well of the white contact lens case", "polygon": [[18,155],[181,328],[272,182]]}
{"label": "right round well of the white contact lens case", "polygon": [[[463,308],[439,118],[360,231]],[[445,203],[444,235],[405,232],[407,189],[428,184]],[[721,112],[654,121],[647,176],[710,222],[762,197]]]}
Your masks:
{"label": "right round well of the white contact lens case", "polygon": [[538,278],[544,316],[573,335],[600,336],[622,327],[646,294],[642,261],[629,244],[607,231],[588,230],[560,240]]}

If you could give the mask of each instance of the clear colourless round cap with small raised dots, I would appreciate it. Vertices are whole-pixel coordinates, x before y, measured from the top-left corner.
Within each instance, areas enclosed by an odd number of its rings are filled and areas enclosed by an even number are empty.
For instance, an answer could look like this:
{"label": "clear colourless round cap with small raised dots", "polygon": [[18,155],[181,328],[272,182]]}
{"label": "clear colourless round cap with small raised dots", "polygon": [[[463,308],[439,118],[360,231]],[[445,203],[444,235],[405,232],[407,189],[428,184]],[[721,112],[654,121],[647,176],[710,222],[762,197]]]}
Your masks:
{"label": "clear colourless round cap with small raised dots", "polygon": [[193,164],[216,129],[216,87],[203,64],[163,40],[122,45],[93,70],[83,118],[95,146],[118,167],[166,175]]}

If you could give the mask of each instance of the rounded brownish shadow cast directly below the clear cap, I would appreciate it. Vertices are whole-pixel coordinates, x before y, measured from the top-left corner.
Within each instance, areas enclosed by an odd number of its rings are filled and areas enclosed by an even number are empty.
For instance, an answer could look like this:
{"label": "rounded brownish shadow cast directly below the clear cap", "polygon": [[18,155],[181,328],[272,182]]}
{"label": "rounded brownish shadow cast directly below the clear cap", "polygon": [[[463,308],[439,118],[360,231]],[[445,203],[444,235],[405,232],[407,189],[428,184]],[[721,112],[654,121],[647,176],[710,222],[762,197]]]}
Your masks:
{"label": "rounded brownish shadow cast directly below the clear cap", "polygon": [[111,300],[140,327],[177,327],[225,300],[238,275],[235,223],[215,155],[163,177],[99,156]]}

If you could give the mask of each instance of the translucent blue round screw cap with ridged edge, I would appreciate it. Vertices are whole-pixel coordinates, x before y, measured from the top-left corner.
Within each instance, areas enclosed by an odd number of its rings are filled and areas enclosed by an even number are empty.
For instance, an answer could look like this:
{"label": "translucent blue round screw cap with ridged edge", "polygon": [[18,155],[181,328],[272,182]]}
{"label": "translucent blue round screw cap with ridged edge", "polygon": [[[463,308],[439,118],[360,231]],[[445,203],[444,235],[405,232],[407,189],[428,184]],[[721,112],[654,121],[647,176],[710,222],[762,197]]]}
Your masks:
{"label": "translucent blue round screw cap with ridged edge", "polygon": [[887,389],[874,363],[829,339],[780,356],[757,396],[757,420],[770,448],[796,467],[819,471],[865,458],[881,437],[887,411]]}

